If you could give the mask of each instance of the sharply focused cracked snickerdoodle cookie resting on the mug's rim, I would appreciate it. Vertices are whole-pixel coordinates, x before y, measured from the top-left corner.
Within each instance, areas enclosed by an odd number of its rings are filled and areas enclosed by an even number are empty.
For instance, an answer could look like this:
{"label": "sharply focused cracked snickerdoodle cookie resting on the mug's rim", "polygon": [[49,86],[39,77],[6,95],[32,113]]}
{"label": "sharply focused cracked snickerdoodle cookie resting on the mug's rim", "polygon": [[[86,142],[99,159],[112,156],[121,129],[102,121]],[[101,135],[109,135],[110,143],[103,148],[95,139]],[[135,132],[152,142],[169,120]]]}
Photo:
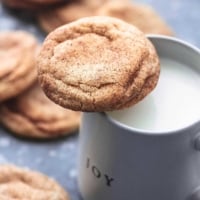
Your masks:
{"label": "sharply focused cracked snickerdoodle cookie resting on the mug's rim", "polygon": [[88,17],[45,39],[38,78],[61,106],[101,112],[136,104],[156,86],[160,65],[151,42],[136,27],[112,17]]}

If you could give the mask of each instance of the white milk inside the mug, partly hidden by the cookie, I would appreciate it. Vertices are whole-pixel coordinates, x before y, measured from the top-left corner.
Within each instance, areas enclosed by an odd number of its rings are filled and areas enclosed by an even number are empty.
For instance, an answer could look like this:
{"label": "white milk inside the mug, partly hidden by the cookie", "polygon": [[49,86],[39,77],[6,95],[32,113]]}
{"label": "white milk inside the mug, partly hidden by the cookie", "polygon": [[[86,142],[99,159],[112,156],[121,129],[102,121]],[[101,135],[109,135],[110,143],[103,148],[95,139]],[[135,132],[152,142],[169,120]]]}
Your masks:
{"label": "white milk inside the mug, partly hidden by the cookie", "polygon": [[167,58],[154,91],[132,108],[108,113],[113,119],[150,132],[186,127],[200,119],[200,75]]}

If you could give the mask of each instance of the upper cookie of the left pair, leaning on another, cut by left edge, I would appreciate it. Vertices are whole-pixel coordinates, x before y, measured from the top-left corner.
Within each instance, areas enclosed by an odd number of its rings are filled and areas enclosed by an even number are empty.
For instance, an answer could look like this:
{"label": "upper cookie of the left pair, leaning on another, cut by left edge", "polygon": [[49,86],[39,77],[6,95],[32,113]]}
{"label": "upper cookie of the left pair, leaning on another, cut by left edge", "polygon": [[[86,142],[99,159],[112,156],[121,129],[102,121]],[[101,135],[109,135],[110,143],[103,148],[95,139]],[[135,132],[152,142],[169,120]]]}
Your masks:
{"label": "upper cookie of the left pair, leaning on another, cut by left edge", "polygon": [[0,102],[20,94],[36,80],[38,48],[29,33],[0,32]]}

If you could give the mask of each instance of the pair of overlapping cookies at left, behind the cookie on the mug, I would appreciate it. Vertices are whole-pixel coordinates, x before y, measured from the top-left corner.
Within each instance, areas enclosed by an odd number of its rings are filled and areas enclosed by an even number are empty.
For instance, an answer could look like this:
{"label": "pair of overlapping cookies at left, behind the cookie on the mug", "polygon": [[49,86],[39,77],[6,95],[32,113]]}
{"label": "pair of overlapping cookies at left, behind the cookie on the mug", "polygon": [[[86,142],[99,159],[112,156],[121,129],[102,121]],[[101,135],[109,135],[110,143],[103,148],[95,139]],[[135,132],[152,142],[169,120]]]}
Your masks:
{"label": "pair of overlapping cookies at left, behind the cookie on the mug", "polygon": [[0,122],[30,138],[55,138],[74,133],[80,113],[51,102],[37,83],[40,46],[30,33],[0,33]]}

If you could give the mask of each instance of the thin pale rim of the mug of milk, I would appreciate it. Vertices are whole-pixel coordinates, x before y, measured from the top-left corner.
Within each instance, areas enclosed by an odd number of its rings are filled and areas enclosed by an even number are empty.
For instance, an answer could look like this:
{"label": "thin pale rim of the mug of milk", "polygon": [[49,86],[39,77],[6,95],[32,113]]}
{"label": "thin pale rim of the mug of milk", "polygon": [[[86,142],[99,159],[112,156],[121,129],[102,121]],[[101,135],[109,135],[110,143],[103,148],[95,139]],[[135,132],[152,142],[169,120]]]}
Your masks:
{"label": "thin pale rim of the mug of milk", "polygon": [[[190,51],[193,51],[194,53],[198,53],[200,56],[200,49],[198,47],[196,47],[193,44],[190,44],[189,42],[184,41],[182,39],[172,37],[172,36],[164,36],[164,35],[157,35],[157,34],[147,34],[146,36],[148,39],[150,39],[150,41],[151,41],[151,39],[158,39],[158,40],[169,41],[169,42],[172,42],[173,44],[179,44],[179,45],[189,49]],[[195,127],[198,124],[200,125],[200,116],[199,116],[199,119],[197,119],[194,122],[192,122],[186,126],[183,126],[181,128],[175,128],[175,129],[169,129],[169,130],[146,130],[146,129],[131,127],[124,123],[121,123],[118,120],[115,120],[114,118],[109,116],[106,112],[102,112],[102,114],[104,114],[104,116],[111,123],[114,123],[118,127],[122,127],[126,130],[129,130],[130,132],[134,131],[135,133],[139,133],[139,134],[143,134],[143,135],[154,135],[154,136],[155,135],[169,135],[169,134],[183,132],[185,130],[190,129],[191,127]]]}

